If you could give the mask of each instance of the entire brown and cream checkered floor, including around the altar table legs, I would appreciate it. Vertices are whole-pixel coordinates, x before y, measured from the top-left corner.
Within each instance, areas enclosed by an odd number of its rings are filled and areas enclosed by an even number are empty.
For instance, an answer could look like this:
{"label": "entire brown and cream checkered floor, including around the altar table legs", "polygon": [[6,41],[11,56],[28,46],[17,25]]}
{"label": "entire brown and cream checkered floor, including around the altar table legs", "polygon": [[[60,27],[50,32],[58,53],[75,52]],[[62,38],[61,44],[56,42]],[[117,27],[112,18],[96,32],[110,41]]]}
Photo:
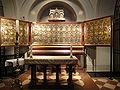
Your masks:
{"label": "entire brown and cream checkered floor, including around the altar table legs", "polygon": [[[55,73],[47,73],[47,79],[49,81],[55,80],[56,74]],[[43,73],[37,72],[37,79],[40,82],[43,79]],[[30,83],[31,75],[30,70],[21,74],[19,79],[22,81],[22,85],[26,86]],[[68,74],[63,71],[61,73],[60,80],[67,82]],[[3,78],[3,83],[0,83],[0,90],[18,90],[18,88],[10,88],[12,81],[14,80],[13,77],[5,77]],[[86,71],[81,70],[80,72],[73,73],[73,81],[75,84],[74,90],[120,90],[120,82],[113,79],[110,80],[105,77],[94,77],[91,78]],[[28,90],[28,87],[24,88]],[[30,90],[30,89],[29,89]]]}

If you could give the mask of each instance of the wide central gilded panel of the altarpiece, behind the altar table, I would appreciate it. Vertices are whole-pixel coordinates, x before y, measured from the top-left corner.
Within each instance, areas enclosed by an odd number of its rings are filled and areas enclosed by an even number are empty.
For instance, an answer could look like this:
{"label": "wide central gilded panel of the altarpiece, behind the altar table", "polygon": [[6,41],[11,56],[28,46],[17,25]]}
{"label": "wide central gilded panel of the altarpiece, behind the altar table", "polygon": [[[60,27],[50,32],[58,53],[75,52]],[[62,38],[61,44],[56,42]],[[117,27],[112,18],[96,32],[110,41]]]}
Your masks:
{"label": "wide central gilded panel of the altarpiece, behind the altar table", "polygon": [[81,24],[32,24],[33,44],[81,44]]}

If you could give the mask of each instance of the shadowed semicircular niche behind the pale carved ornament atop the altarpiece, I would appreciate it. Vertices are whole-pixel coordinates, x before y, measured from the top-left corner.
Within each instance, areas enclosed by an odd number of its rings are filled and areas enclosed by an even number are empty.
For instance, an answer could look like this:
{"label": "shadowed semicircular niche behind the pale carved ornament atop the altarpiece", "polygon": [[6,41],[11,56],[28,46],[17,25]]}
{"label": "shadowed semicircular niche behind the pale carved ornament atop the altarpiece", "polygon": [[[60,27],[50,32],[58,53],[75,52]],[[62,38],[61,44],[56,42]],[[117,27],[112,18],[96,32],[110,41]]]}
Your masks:
{"label": "shadowed semicircular niche behind the pale carved ornament atop the altarpiece", "polygon": [[73,8],[65,2],[54,1],[44,5],[37,15],[37,21],[47,21],[49,10],[51,8],[63,9],[65,13],[66,21],[76,21],[77,15]]}

